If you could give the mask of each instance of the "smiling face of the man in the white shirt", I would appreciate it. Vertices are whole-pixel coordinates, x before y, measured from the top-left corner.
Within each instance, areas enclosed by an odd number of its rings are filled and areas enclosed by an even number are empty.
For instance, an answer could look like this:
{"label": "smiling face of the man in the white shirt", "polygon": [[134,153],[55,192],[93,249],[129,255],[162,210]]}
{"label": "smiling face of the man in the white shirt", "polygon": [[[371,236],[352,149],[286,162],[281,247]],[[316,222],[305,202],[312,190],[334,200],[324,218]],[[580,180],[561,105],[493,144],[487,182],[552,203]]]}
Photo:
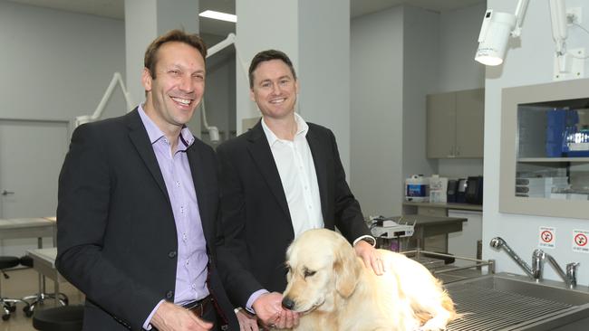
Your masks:
{"label": "smiling face of the man in the white shirt", "polygon": [[268,118],[285,118],[294,112],[298,82],[281,60],[261,62],[254,71],[250,98]]}

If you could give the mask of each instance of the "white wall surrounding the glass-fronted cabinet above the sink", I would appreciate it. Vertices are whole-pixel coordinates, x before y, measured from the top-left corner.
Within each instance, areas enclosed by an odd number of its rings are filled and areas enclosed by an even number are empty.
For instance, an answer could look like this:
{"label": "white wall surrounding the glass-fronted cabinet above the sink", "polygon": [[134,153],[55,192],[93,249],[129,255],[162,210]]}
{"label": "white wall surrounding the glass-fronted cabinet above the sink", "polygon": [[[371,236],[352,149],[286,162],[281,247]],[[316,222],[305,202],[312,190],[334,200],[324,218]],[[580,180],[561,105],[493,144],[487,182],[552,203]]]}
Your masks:
{"label": "white wall surrounding the glass-fronted cabinet above the sink", "polygon": [[[584,14],[589,13],[589,3],[583,0],[568,0],[569,7],[582,7]],[[489,0],[489,8],[497,11],[514,13],[516,3],[511,0]],[[589,24],[584,22],[586,29]],[[578,28],[569,28],[567,45],[569,48],[585,47],[589,49],[587,34]],[[483,257],[496,259],[498,271],[523,274],[523,271],[507,257],[504,252],[492,250],[488,242],[495,236],[503,237],[507,243],[525,260],[538,245],[538,228],[552,226],[556,228],[556,248],[546,250],[561,264],[581,262],[578,270],[579,284],[589,282],[589,256],[572,251],[573,230],[589,229],[588,220],[565,219],[559,217],[541,217],[499,213],[498,182],[502,175],[499,169],[500,151],[497,137],[501,132],[501,90],[507,87],[534,85],[552,81],[554,43],[550,29],[548,2],[530,2],[526,19],[522,26],[519,42],[510,43],[506,61],[501,67],[488,68],[486,73],[485,95],[485,194],[483,213]],[[585,66],[587,62],[585,61]],[[585,74],[585,77],[587,75]],[[547,279],[558,279],[555,272],[546,267]]]}

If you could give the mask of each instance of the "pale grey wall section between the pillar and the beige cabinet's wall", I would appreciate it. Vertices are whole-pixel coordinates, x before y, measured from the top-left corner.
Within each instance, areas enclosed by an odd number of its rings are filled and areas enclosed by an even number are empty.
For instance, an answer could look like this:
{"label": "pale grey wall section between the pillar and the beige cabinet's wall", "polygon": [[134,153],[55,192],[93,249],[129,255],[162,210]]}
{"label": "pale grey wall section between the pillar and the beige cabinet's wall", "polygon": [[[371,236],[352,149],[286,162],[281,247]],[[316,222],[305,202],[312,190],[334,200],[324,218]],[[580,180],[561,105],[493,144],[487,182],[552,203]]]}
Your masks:
{"label": "pale grey wall section between the pillar and the beige cabinet's wall", "polygon": [[352,192],[364,214],[401,213],[402,7],[352,19],[350,39]]}

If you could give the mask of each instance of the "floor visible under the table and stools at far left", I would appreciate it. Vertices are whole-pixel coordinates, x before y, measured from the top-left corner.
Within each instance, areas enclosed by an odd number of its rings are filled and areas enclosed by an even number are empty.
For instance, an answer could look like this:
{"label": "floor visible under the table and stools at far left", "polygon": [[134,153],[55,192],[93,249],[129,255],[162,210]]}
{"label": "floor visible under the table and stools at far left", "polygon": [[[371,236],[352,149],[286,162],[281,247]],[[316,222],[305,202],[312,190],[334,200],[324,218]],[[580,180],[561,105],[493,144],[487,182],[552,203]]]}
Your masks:
{"label": "floor visible under the table and stools at far left", "polygon": [[[18,269],[6,271],[10,279],[2,277],[2,296],[7,298],[23,298],[38,292],[38,274],[33,269]],[[46,280],[47,292],[53,292],[53,280]],[[83,295],[69,283],[61,283],[60,291],[68,296],[70,304],[80,304],[83,302]],[[33,328],[33,318],[25,317],[23,304],[17,304],[16,311],[7,321],[0,320],[0,331],[30,331]],[[48,299],[39,309],[54,307],[53,299]],[[36,309],[37,307],[35,307]]]}

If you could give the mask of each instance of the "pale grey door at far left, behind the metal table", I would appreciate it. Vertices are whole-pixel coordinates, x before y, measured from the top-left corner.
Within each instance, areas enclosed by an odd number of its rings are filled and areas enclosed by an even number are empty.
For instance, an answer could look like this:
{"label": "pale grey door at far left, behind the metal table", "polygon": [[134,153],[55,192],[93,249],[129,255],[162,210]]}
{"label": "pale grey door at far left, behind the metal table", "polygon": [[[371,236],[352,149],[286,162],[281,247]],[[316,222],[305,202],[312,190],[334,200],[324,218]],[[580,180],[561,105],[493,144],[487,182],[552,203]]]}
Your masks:
{"label": "pale grey door at far left, behind the metal table", "polygon": [[[0,119],[0,218],[54,216],[68,121]],[[43,247],[51,246],[43,239]],[[0,241],[0,255],[24,255],[36,239]]]}

